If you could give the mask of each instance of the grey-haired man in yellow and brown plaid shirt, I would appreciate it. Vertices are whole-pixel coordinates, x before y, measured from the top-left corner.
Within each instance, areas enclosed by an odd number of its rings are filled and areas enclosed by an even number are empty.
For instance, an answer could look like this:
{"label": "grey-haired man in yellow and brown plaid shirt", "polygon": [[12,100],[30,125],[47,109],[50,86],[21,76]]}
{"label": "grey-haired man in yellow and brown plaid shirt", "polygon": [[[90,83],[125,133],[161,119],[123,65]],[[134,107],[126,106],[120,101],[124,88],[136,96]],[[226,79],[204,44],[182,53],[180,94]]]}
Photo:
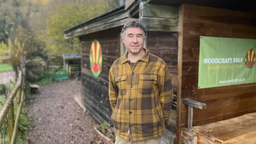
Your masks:
{"label": "grey-haired man in yellow and brown plaid shirt", "polygon": [[145,28],[139,22],[127,22],[121,37],[127,51],[109,70],[115,143],[160,143],[173,99],[169,69],[143,47]]}

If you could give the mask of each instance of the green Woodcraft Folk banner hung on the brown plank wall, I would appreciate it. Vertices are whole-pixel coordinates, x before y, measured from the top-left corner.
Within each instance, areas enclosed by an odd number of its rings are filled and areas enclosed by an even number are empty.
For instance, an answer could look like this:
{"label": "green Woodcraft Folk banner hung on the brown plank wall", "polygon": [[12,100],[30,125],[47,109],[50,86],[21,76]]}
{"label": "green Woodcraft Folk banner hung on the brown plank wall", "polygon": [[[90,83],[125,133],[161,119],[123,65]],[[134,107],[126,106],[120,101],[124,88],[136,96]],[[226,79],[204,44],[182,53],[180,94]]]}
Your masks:
{"label": "green Woodcraft Folk banner hung on the brown plank wall", "polygon": [[256,83],[256,39],[200,37],[198,89]]}

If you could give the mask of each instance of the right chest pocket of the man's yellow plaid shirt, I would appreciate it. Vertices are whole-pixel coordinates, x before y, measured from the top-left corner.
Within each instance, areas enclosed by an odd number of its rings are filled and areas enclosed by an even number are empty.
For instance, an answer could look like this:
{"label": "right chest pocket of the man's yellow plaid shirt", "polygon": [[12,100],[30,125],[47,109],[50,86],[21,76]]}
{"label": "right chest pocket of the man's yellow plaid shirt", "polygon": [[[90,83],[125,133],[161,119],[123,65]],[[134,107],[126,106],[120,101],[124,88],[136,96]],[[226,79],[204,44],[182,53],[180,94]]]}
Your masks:
{"label": "right chest pocket of the man's yellow plaid shirt", "polygon": [[157,75],[140,75],[139,78],[139,93],[153,94],[157,86]]}

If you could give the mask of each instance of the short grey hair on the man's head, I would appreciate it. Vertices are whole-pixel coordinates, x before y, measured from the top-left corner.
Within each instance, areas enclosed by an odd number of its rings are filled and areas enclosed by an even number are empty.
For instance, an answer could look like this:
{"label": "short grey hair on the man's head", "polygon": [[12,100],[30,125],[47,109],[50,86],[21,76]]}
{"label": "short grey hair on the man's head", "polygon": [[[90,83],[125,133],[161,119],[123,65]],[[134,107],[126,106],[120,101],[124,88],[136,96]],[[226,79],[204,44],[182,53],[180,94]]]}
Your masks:
{"label": "short grey hair on the man's head", "polygon": [[122,28],[122,31],[120,33],[120,36],[122,38],[124,38],[125,36],[125,31],[127,28],[140,28],[143,31],[143,38],[146,38],[146,30],[145,27],[143,25],[140,24],[139,21],[130,21],[130,22],[126,22],[124,27]]}

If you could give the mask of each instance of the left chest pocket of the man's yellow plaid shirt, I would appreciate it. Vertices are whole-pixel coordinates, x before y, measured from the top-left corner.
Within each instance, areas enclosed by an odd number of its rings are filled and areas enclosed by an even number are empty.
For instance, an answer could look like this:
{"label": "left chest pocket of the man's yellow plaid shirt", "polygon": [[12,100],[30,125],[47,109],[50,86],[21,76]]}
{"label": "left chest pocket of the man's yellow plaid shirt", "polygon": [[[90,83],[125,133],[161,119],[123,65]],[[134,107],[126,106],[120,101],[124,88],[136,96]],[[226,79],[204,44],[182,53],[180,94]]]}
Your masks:
{"label": "left chest pocket of the man's yellow plaid shirt", "polygon": [[127,75],[120,75],[115,78],[118,87],[118,95],[125,95],[127,92]]}

